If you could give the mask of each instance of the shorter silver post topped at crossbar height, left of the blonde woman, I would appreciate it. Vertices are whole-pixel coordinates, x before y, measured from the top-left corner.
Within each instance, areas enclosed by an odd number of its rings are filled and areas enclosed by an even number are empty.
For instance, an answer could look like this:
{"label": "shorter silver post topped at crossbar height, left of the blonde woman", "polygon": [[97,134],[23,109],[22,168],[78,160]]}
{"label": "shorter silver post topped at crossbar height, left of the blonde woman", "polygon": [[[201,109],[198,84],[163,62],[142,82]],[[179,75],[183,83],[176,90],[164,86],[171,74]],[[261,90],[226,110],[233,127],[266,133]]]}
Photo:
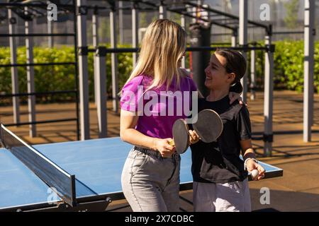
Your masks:
{"label": "shorter silver post topped at crossbar height, left of the blonde woman", "polygon": [[96,49],[96,69],[99,71],[96,83],[96,111],[98,114],[99,138],[107,136],[107,116],[106,116],[106,47]]}

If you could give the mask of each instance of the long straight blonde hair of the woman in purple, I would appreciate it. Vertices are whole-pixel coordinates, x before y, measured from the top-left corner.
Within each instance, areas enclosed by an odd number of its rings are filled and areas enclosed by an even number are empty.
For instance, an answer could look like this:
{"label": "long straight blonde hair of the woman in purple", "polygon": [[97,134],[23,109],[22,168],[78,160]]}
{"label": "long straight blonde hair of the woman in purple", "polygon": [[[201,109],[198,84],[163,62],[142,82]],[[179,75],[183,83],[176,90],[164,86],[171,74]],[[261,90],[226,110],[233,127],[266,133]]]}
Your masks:
{"label": "long straight blonde hair of the woman in purple", "polygon": [[147,90],[165,82],[168,89],[174,76],[179,85],[183,73],[179,70],[178,61],[183,57],[185,48],[186,32],[178,23],[167,19],[155,20],[145,32],[138,62],[126,83],[144,73],[153,77]]}

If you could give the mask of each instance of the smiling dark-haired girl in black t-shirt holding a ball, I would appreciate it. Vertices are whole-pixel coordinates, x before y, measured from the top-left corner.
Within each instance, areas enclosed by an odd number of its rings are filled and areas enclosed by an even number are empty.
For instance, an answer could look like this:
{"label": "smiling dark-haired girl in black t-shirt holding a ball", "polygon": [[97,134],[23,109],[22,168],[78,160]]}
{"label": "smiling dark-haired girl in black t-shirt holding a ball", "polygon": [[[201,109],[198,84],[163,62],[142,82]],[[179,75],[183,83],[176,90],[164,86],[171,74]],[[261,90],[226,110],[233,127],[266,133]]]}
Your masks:
{"label": "smiling dark-haired girl in black t-shirt holding a ball", "polygon": [[210,93],[198,101],[198,111],[213,109],[220,114],[223,132],[216,142],[191,145],[195,211],[251,211],[247,170],[258,170],[255,180],[264,177],[252,150],[248,109],[238,101],[230,104],[228,97],[245,71],[245,57],[231,49],[218,49],[205,69]]}

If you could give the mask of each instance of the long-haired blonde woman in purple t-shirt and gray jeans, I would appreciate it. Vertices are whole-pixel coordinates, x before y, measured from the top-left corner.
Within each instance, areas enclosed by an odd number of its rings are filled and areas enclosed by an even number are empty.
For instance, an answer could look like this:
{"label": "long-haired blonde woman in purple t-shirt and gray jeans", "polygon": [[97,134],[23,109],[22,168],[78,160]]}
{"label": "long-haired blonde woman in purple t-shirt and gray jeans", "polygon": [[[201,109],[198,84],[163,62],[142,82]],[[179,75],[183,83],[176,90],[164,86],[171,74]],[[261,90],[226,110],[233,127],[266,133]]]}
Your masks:
{"label": "long-haired blonde woman in purple t-shirt and gray jeans", "polygon": [[[181,157],[169,142],[174,121],[187,117],[177,108],[191,106],[191,93],[197,91],[191,77],[180,69],[185,48],[186,32],[179,24],[155,20],[145,32],[138,62],[121,90],[121,139],[133,145],[121,183],[133,211],[179,211]],[[174,95],[177,91],[183,94],[181,99]],[[194,132],[190,133],[190,141],[195,142]]]}

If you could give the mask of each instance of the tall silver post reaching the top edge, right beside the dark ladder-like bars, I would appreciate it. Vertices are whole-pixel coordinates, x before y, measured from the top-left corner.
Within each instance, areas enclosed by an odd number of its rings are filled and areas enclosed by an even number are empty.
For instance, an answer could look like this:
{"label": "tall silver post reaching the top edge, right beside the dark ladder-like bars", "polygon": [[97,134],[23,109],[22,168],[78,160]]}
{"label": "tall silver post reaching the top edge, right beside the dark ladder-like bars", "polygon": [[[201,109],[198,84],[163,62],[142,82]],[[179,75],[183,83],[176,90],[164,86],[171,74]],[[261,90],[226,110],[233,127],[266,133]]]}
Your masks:
{"label": "tall silver post reaching the top edge, right beside the dark ladder-like bars", "polygon": [[90,138],[89,124],[89,75],[88,75],[88,48],[86,44],[86,10],[81,6],[86,5],[86,0],[77,0],[77,44],[79,47],[79,99],[81,140]]}

